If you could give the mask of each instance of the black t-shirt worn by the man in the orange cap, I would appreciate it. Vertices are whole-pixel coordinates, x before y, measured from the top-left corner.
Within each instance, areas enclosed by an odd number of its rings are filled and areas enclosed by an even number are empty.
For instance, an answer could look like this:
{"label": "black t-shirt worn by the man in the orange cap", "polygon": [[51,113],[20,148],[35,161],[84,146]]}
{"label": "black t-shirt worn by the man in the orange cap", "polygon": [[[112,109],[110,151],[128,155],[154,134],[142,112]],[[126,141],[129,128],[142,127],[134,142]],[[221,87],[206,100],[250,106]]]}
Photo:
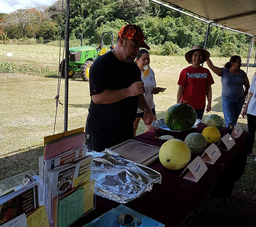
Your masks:
{"label": "black t-shirt worn by the man in the orange cap", "polygon": [[[141,70],[135,62],[124,63],[110,51],[93,63],[90,68],[90,95],[105,89],[118,90],[141,81]],[[120,133],[133,128],[138,108],[138,96],[130,96],[112,104],[96,104],[92,99],[86,121],[89,134]],[[129,129],[129,130],[130,130]]]}

